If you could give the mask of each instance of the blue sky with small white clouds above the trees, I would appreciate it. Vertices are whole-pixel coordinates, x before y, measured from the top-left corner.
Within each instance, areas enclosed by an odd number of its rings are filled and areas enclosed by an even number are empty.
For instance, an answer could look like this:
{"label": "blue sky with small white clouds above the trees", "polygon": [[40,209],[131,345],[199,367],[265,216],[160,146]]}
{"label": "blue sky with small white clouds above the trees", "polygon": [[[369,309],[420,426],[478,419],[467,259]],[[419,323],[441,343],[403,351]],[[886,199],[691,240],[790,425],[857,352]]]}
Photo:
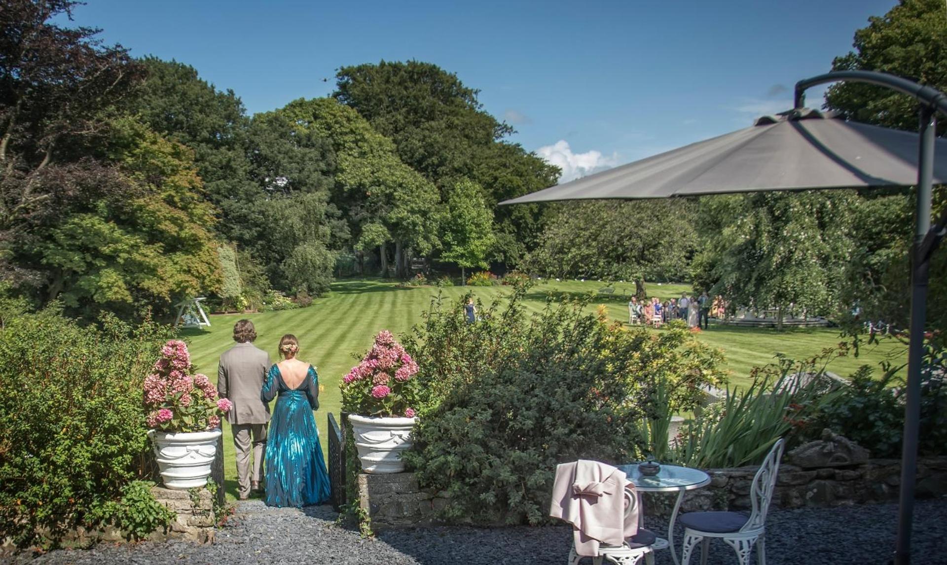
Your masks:
{"label": "blue sky with small white clouds above the trees", "polygon": [[787,109],[796,80],[895,3],[88,0],[75,19],[193,65],[251,114],[330,94],[342,65],[434,62],[568,178]]}

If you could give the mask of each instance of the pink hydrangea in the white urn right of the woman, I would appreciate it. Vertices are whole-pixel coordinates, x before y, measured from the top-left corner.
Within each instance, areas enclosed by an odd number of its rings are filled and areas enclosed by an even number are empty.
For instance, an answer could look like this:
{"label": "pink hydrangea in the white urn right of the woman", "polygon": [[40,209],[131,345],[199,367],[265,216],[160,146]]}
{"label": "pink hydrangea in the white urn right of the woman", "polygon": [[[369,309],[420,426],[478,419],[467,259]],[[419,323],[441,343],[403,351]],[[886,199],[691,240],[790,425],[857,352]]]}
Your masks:
{"label": "pink hydrangea in the white urn right of the woman", "polygon": [[414,417],[418,401],[418,362],[390,331],[342,379],[342,410],[349,414]]}

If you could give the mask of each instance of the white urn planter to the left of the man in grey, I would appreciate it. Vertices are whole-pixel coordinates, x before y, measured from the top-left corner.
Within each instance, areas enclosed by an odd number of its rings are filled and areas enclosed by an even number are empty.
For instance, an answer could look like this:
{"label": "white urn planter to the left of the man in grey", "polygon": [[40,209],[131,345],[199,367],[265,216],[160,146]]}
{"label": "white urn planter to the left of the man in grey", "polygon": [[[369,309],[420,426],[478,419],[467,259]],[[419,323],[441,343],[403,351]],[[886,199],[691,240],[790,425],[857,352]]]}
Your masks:
{"label": "white urn planter to the left of the man in grey", "polygon": [[149,430],[161,479],[172,490],[205,486],[217,455],[220,428],[209,432],[167,433]]}

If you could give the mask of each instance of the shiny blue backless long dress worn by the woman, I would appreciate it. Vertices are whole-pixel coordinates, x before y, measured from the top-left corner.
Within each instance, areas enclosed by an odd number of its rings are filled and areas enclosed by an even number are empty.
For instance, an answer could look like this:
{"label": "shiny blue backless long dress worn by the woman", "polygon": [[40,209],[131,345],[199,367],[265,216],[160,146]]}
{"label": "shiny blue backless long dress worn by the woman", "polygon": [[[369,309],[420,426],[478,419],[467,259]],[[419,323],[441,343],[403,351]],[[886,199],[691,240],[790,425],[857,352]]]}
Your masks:
{"label": "shiny blue backless long dress worn by the woman", "polygon": [[310,365],[295,389],[283,382],[279,367],[266,375],[260,395],[269,403],[277,397],[266,439],[266,498],[268,506],[304,506],[329,500],[329,472],[322,458],[313,410],[319,408],[319,377]]}

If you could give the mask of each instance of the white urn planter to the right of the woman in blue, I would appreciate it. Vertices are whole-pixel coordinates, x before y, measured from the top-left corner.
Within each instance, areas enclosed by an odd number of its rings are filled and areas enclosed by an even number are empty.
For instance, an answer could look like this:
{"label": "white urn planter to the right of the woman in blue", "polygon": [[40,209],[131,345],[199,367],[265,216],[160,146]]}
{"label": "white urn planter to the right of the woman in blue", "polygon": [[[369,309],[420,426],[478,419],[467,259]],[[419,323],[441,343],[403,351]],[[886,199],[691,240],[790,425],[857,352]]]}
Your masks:
{"label": "white urn planter to the right of the woman in blue", "polygon": [[402,451],[411,447],[411,429],[418,418],[349,415],[355,448],[366,473],[400,473]]}

